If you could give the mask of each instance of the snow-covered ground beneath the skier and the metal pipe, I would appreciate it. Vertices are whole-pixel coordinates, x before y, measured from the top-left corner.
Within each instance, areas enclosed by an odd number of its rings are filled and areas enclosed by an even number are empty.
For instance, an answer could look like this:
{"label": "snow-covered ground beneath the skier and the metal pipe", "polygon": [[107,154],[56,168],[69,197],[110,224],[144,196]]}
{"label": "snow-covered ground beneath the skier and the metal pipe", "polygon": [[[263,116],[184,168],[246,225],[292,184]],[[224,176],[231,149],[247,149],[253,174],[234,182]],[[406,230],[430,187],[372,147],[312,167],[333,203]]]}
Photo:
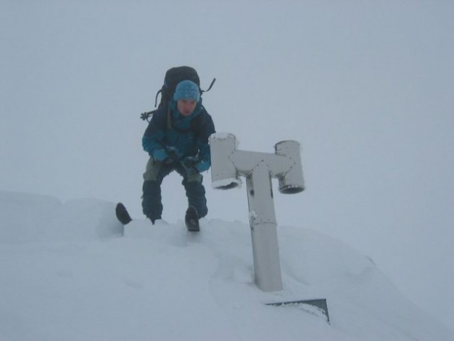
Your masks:
{"label": "snow-covered ground beneath the skier and the metal pipe", "polygon": [[[266,293],[247,224],[123,229],[114,206],[0,192],[0,340],[454,340],[333,237],[279,226],[284,288]],[[308,305],[266,305],[312,298],[330,324]]]}

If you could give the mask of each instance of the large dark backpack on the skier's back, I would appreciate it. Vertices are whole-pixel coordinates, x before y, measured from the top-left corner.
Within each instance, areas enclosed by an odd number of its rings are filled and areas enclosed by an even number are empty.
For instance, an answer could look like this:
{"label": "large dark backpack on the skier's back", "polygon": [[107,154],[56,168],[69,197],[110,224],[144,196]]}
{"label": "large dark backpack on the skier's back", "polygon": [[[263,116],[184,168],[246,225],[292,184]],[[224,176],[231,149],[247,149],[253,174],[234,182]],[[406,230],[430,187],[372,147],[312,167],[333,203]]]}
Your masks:
{"label": "large dark backpack on the skier's back", "polygon": [[[200,89],[199,75],[197,74],[197,71],[195,71],[195,69],[193,67],[190,67],[190,66],[172,67],[171,69],[167,70],[166,77],[164,77],[164,84],[161,87],[161,90],[159,90],[156,93],[154,107],[156,108],[156,105],[158,104],[158,95],[159,94],[161,94],[161,101],[159,102],[158,109],[161,107],[167,107],[168,102],[170,102],[173,97],[173,93],[175,92],[176,86],[182,80],[190,80],[192,82],[195,82],[195,84],[197,84],[199,87],[200,96],[201,96],[203,92],[210,91],[211,87],[213,86],[213,84],[216,81],[216,78],[214,78],[212,80],[210,87],[208,87],[207,90],[202,90],[202,89]],[[148,119],[158,109],[154,109],[151,112],[144,112],[143,114],[141,114],[141,119],[143,119],[144,121],[145,120],[148,121]]]}

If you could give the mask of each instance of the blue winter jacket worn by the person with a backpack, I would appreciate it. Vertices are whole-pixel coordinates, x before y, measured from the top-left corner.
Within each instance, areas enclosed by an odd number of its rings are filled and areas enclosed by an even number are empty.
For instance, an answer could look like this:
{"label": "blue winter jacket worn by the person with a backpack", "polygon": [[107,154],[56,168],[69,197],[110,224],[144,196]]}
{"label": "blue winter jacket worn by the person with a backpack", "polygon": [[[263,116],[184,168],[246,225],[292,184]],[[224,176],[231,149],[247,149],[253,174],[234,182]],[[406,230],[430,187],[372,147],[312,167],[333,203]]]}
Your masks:
{"label": "blue winter jacket worn by the person with a backpack", "polygon": [[209,167],[211,156],[208,138],[216,131],[212,117],[202,106],[202,99],[188,117],[178,112],[175,100],[172,99],[169,106],[171,117],[168,117],[167,107],[159,107],[151,117],[142,138],[144,151],[153,157],[156,151],[173,147],[178,158],[198,156]]}

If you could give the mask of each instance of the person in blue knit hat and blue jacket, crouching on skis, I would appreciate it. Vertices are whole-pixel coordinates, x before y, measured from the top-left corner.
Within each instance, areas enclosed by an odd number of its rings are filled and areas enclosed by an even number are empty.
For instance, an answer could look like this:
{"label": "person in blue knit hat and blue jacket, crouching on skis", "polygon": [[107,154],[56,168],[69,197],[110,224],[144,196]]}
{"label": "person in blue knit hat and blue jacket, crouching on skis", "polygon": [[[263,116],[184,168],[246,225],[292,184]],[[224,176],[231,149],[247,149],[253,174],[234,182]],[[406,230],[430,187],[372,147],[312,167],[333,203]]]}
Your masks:
{"label": "person in blue knit hat and blue jacket, crouching on skis", "polygon": [[142,209],[154,224],[161,219],[161,183],[172,171],[183,177],[188,210],[198,218],[207,215],[202,172],[211,166],[208,138],[215,133],[212,117],[202,106],[195,82],[183,80],[168,107],[160,107],[148,124],[142,146],[150,158],[144,173]]}

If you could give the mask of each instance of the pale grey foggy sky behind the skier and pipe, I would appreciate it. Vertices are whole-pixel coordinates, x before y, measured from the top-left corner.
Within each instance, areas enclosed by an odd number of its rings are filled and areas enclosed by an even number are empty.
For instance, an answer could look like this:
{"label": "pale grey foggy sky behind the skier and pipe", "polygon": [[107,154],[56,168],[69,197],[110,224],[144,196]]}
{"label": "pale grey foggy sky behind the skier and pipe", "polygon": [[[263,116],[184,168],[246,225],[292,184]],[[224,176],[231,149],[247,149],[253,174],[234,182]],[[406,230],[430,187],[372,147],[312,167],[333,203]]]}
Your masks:
{"label": "pale grey foggy sky behind the skier and pipe", "polygon": [[[204,104],[239,148],[301,142],[307,189],[276,191],[279,224],[342,239],[453,320],[454,4],[163,2],[0,1],[0,190],[140,217],[139,114],[168,67],[191,65],[202,87],[217,78]],[[247,221],[245,186],[210,180],[208,219]],[[163,195],[180,220],[178,175]]]}

